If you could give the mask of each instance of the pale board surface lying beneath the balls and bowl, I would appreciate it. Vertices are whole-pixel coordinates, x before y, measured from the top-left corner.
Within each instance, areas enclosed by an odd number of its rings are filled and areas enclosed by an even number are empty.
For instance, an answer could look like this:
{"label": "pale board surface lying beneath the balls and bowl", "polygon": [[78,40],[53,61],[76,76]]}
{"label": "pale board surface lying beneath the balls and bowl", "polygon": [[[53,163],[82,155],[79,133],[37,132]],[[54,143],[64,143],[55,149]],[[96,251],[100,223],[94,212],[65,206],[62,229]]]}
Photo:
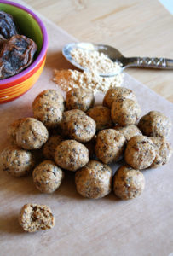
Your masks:
{"label": "pale board surface lying beneath the balls and bowl", "polygon": [[[61,55],[62,47],[75,41],[49,20],[46,66],[37,83],[26,95],[0,107],[0,151],[9,144],[7,126],[32,115],[32,101],[45,89],[58,87],[52,79],[54,68],[71,67]],[[129,75],[124,86],[136,93],[142,114],[159,110],[173,119],[173,107],[161,96]],[[102,95],[97,95],[101,102]],[[172,142],[173,133],[168,138]],[[0,255],[169,255],[173,251],[173,159],[159,169],[146,170],[146,189],[131,201],[120,201],[112,193],[101,200],[78,195],[73,173],[66,173],[60,189],[41,194],[32,177],[10,177],[0,171]],[[116,165],[112,166],[115,171]],[[55,214],[55,228],[28,234],[18,224],[20,207],[32,202],[46,204]]]}

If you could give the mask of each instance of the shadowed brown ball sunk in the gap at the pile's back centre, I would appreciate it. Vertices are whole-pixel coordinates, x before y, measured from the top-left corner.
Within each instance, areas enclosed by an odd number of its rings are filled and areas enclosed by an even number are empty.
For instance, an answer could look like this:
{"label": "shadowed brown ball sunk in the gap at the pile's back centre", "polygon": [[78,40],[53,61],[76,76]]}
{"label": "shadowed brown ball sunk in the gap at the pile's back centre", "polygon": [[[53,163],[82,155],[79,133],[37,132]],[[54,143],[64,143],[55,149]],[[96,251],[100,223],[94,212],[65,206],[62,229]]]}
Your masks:
{"label": "shadowed brown ball sunk in the gap at the pile's back centre", "polygon": [[96,131],[112,127],[111,111],[109,108],[95,106],[94,108],[90,108],[87,114],[95,120]]}

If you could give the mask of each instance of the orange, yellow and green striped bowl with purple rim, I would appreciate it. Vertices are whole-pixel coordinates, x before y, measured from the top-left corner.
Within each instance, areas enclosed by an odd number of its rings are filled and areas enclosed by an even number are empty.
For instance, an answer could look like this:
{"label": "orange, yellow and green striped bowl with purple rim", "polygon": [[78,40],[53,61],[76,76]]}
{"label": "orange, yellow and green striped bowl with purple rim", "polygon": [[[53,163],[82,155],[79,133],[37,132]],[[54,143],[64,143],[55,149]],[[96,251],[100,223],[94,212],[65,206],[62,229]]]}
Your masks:
{"label": "orange, yellow and green striped bowl with purple rim", "polygon": [[37,53],[35,61],[24,71],[10,77],[0,80],[0,104],[11,102],[22,96],[36,83],[43,71],[46,53],[48,49],[48,34],[37,15],[26,7],[9,1],[0,0],[0,10],[13,15],[14,21],[20,28],[21,34],[27,38],[32,38],[37,44]]}

